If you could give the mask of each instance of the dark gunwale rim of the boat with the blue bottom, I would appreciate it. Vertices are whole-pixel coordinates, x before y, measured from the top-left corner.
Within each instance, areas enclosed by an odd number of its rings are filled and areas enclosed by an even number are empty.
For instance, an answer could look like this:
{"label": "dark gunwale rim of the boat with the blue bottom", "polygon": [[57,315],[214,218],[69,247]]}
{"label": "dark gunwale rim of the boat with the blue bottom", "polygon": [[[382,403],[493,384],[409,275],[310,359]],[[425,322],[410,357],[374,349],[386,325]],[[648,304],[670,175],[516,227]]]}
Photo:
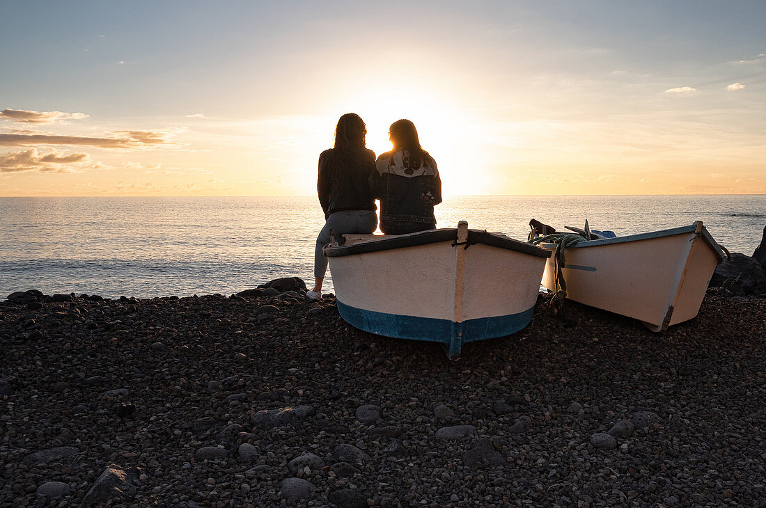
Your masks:
{"label": "dark gunwale rim of the boat with the blue bottom", "polygon": [[[426,230],[418,233],[410,233],[408,235],[391,235],[391,238],[373,239],[355,243],[350,246],[331,247],[328,245],[325,246],[323,252],[325,256],[329,258],[336,258],[391,249],[405,249],[407,247],[424,246],[430,245],[431,243],[448,242],[450,240],[453,243],[457,242],[457,228]],[[548,249],[543,249],[542,247],[534,246],[530,243],[525,243],[520,240],[512,239],[507,236],[500,236],[497,233],[489,233],[483,230],[468,230],[468,239],[466,242],[466,246],[480,243],[486,246],[512,250],[540,258],[549,258],[552,255],[552,252]]]}

